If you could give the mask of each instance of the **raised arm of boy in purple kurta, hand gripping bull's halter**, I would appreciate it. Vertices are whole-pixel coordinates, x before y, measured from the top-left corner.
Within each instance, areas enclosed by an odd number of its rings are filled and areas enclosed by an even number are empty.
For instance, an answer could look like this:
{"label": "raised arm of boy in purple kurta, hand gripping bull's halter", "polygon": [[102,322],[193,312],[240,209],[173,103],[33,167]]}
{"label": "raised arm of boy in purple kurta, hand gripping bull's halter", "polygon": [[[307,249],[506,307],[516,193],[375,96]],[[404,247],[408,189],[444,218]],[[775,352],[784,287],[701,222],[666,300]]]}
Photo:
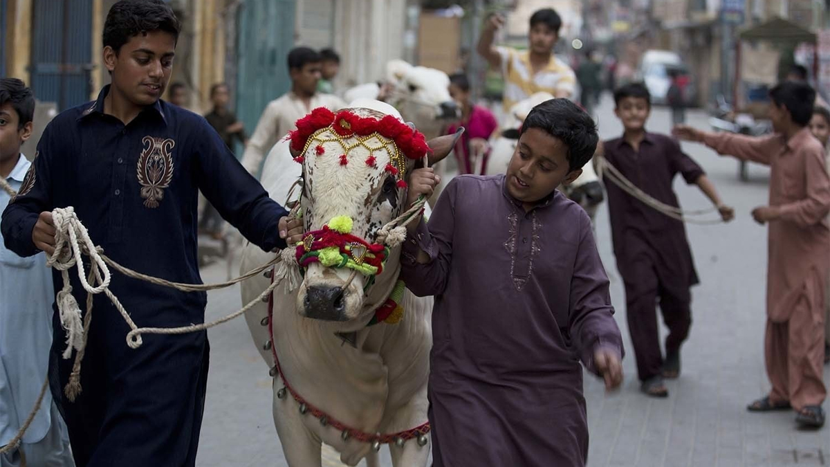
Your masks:
{"label": "raised arm of boy in purple kurta, hand gripping bull's halter", "polygon": [[[419,196],[429,196],[440,182],[432,169],[418,169],[410,177],[407,206]],[[401,279],[418,297],[438,295],[447,287],[450,259],[452,258],[452,232],[455,227],[455,180],[438,199],[429,219],[414,220],[407,226],[407,239],[401,252]]]}

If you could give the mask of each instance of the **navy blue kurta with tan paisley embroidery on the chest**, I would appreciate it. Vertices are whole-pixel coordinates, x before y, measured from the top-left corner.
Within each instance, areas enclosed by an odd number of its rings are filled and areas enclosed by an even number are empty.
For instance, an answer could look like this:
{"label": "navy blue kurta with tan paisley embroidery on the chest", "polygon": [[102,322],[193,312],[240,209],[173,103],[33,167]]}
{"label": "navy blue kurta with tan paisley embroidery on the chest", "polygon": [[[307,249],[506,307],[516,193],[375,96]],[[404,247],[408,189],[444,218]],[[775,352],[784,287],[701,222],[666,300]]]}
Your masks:
{"label": "navy blue kurta with tan paisley embroidery on the chest", "polygon": [[[159,101],[124,125],[104,114],[108,91],[109,86],[97,101],[61,113],[46,127],[21,193],[2,214],[7,248],[21,256],[37,253],[32,229],[38,214],[73,206],[93,242],[116,262],[157,278],[201,283],[200,189],[252,243],[266,250],[285,246],[277,224],[286,210],[268,198],[202,116]],[[74,271],[71,276],[83,306],[85,292]],[[61,284],[56,273],[56,289]],[[110,290],[139,327],[204,320],[203,292],[178,292],[118,273]],[[55,324],[57,356],[66,340],[57,318]],[[147,335],[144,346],[133,350],[125,342],[127,332],[110,302],[95,297],[81,373],[84,391],[75,403],[62,401],[76,460],[80,457],[79,465],[193,465],[207,336]],[[71,361],[57,366],[62,389]]]}

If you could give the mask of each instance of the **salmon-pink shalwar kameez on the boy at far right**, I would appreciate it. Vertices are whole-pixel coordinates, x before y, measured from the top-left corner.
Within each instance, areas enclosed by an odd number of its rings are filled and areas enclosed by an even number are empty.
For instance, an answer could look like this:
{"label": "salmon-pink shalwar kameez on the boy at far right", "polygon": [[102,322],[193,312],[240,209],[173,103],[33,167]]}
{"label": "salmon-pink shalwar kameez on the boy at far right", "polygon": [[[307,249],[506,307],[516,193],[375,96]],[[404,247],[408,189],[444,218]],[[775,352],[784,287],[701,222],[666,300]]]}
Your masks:
{"label": "salmon-pink shalwar kameez on the boy at far right", "polygon": [[720,154],[769,165],[769,205],[780,218],[769,223],[767,266],[767,375],[769,399],[795,410],[820,406],[824,297],[830,273],[830,177],[821,143],[808,129],[789,140],[781,135],[750,138],[706,135]]}

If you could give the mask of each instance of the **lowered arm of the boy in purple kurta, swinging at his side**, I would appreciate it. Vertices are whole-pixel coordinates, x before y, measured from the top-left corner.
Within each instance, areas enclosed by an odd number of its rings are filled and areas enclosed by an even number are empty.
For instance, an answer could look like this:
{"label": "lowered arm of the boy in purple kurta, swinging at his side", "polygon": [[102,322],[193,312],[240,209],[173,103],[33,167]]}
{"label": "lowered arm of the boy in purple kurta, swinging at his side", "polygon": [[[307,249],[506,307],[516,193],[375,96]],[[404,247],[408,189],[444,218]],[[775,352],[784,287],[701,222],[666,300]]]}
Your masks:
{"label": "lowered arm of the boy in purple kurta, swinging at his side", "polygon": [[588,371],[603,377],[608,390],[623,382],[623,337],[614,321],[608,276],[593,239],[591,221],[582,213],[581,238],[571,279],[569,334]]}

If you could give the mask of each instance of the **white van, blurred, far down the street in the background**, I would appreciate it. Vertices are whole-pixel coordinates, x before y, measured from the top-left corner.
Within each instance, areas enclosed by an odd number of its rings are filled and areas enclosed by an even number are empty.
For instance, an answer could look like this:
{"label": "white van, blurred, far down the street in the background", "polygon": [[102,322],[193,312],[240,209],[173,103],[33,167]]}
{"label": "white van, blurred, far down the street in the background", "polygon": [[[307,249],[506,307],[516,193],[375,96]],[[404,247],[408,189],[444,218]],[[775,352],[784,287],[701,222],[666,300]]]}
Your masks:
{"label": "white van, blurred, far down the street in the background", "polygon": [[671,75],[676,74],[681,81],[683,99],[686,106],[697,103],[697,85],[694,76],[675,52],[651,50],[643,54],[637,69],[637,79],[642,81],[652,95],[652,103],[666,105],[666,95],[671,86]]}

